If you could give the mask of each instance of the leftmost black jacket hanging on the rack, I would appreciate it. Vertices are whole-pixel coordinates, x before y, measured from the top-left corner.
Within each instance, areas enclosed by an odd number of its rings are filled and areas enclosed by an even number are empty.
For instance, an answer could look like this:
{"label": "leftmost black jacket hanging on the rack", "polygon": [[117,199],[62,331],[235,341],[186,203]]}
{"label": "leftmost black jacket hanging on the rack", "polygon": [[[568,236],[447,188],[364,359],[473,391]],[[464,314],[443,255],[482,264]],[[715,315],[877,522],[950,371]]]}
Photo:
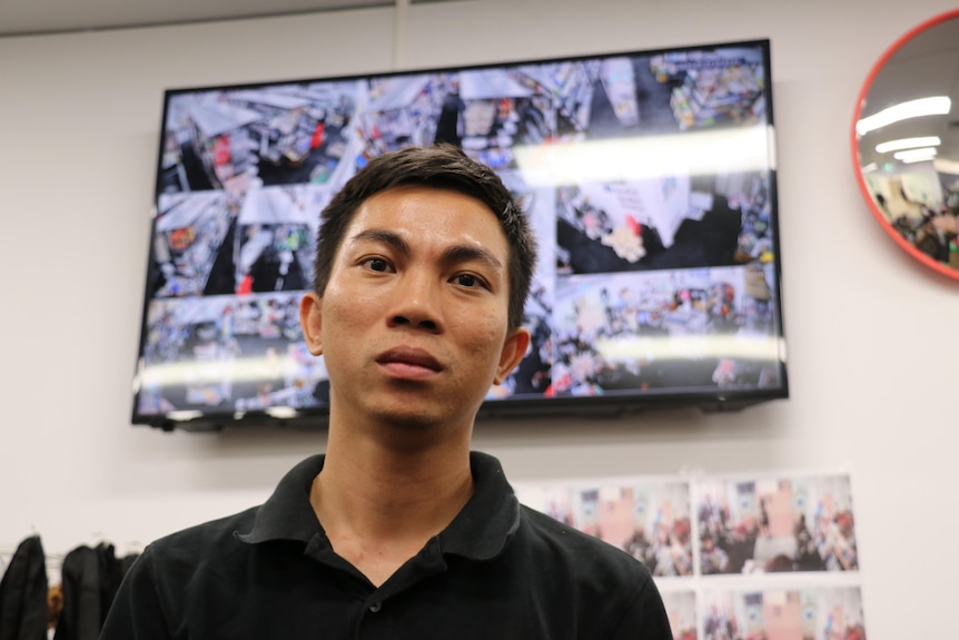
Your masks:
{"label": "leftmost black jacket hanging on the rack", "polygon": [[47,588],[43,545],[31,535],[0,580],[0,640],[47,640]]}

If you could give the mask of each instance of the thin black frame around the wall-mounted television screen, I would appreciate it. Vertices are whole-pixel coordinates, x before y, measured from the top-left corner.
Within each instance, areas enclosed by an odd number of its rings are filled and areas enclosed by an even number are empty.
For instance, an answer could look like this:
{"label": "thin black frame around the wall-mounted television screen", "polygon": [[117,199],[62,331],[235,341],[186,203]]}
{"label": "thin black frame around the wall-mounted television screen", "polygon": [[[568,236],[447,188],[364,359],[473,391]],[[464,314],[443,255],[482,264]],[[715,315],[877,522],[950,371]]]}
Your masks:
{"label": "thin black frame around the wall-mounted television screen", "polygon": [[[164,109],[160,121],[160,136],[157,152],[157,161],[155,166],[155,190],[154,190],[154,211],[150,224],[149,249],[144,287],[144,302],[141,307],[141,324],[140,337],[138,343],[137,366],[135,372],[134,385],[134,406],[131,422],[135,425],[146,425],[162,431],[219,431],[225,427],[246,427],[246,426],[275,426],[275,427],[294,427],[294,429],[323,429],[328,420],[327,406],[312,406],[297,410],[293,413],[277,412],[273,408],[268,410],[248,410],[238,412],[233,410],[225,411],[205,411],[197,412],[192,417],[171,416],[169,414],[149,414],[142,413],[139,410],[139,378],[142,367],[144,348],[147,341],[148,312],[152,299],[149,283],[154,276],[156,266],[154,254],[154,239],[157,233],[157,220],[159,218],[158,203],[161,195],[162,179],[162,159],[164,159],[164,137],[167,132],[167,118],[170,108],[170,100],[184,93],[206,92],[206,91],[231,91],[240,89],[260,89],[269,87],[279,87],[286,85],[300,85],[308,82],[343,82],[355,80],[376,80],[392,77],[415,76],[424,73],[455,73],[466,70],[484,70],[484,69],[502,69],[510,67],[527,66],[527,65],[551,65],[558,62],[582,62],[589,60],[597,60],[616,57],[654,57],[664,53],[688,53],[699,51],[710,51],[716,49],[736,49],[736,48],[759,48],[762,55],[764,85],[762,87],[762,96],[765,100],[764,105],[764,125],[768,127],[770,149],[770,166],[768,169],[769,180],[769,199],[771,201],[771,224],[770,235],[774,259],[772,264],[772,279],[774,279],[773,292],[773,321],[778,333],[771,337],[779,342],[778,353],[779,360],[775,363],[778,366],[779,384],[773,387],[751,386],[748,388],[736,387],[668,387],[653,390],[632,390],[630,393],[607,393],[602,395],[591,396],[553,396],[546,397],[540,395],[536,397],[508,397],[504,400],[487,400],[483,403],[477,414],[477,421],[484,420],[528,420],[536,417],[616,417],[626,414],[642,413],[645,411],[663,410],[663,408],[694,408],[702,412],[726,412],[739,411],[748,406],[759,403],[764,403],[773,400],[782,400],[789,397],[789,378],[787,371],[785,358],[785,329],[783,325],[782,311],[782,244],[780,239],[779,224],[779,200],[778,200],[778,169],[775,165],[775,147],[774,147],[774,117],[773,117],[773,100],[772,100],[772,71],[771,71],[771,41],[768,38],[722,41],[703,45],[685,45],[676,47],[660,47],[655,49],[635,49],[622,51],[607,51],[590,55],[562,56],[550,58],[533,58],[522,60],[505,60],[498,62],[487,62],[478,65],[459,65],[452,67],[427,67],[416,68],[403,71],[383,71],[372,73],[353,73],[344,76],[320,76],[314,78],[291,78],[269,81],[255,82],[236,82],[225,85],[204,85],[194,87],[181,87],[166,89],[164,91]],[[744,265],[740,265],[744,266]],[[715,267],[705,267],[715,268]],[[666,270],[666,269],[664,269]],[[676,269],[670,269],[676,270]],[[643,272],[639,272],[643,273]],[[188,412],[185,412],[188,413]]]}

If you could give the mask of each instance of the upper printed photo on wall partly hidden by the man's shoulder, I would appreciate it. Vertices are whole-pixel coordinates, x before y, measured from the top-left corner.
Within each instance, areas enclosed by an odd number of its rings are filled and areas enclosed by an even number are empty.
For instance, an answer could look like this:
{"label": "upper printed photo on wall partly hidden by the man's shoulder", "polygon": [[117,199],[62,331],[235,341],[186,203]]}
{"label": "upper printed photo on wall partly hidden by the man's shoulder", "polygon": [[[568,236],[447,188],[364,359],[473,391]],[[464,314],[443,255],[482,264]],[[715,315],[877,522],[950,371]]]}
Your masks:
{"label": "upper printed photo on wall partly hidden by the man's shoulder", "polygon": [[685,481],[516,485],[520,501],[623,549],[658,578],[693,574]]}

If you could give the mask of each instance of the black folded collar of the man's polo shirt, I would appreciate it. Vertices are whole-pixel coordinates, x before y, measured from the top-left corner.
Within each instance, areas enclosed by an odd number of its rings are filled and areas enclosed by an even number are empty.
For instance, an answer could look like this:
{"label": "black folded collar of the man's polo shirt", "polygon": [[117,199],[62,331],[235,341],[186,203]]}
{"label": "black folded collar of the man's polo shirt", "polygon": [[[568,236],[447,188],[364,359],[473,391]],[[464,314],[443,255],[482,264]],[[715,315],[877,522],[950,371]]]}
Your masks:
{"label": "black folded collar of the man's polo shirt", "polygon": [[[308,543],[323,526],[309,502],[313,480],[323,469],[325,456],[310,456],[294,466],[257,511],[249,532],[237,532],[243,542],[295,540]],[[500,461],[472,452],[473,495],[453,522],[438,535],[443,553],[473,560],[490,560],[506,547],[520,526],[520,503],[506,481]]]}

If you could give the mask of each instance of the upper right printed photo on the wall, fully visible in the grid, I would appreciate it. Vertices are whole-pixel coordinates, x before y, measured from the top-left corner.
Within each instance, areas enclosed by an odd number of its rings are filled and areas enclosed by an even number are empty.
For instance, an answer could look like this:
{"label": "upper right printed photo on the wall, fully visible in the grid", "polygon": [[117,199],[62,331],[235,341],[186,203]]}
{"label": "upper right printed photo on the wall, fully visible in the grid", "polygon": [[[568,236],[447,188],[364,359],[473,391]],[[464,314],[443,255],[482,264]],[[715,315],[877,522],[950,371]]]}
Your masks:
{"label": "upper right printed photo on the wall, fully visible in the grid", "polygon": [[848,475],[696,482],[700,571],[858,571]]}

